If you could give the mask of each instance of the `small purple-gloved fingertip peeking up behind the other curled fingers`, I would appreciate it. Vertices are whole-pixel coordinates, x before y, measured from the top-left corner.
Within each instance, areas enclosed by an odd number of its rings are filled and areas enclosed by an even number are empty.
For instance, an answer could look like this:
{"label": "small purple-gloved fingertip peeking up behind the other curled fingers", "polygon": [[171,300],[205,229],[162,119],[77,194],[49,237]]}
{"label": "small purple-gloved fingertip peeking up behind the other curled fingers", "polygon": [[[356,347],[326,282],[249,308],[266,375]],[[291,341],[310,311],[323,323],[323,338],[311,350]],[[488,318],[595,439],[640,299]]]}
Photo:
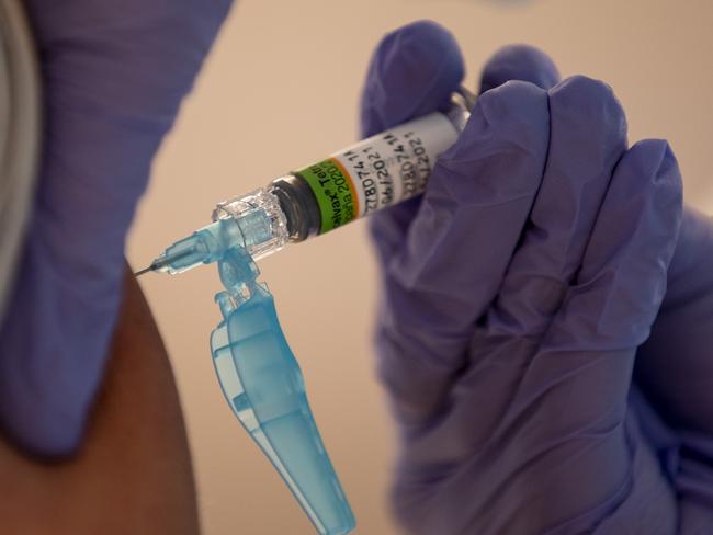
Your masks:
{"label": "small purple-gloved fingertip peeking up behind the other curled fingers", "polygon": [[559,71],[545,53],[530,45],[508,45],[496,52],[480,73],[480,93],[510,80],[550,89],[559,82]]}

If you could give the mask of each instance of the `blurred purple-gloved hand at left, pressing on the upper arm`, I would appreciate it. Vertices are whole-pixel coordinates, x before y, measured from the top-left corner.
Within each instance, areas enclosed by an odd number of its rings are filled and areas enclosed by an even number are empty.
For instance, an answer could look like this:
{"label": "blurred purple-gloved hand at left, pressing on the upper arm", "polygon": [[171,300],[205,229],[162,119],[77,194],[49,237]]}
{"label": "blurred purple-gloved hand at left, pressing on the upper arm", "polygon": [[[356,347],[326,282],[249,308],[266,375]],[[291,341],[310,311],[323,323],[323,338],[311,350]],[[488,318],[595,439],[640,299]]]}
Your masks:
{"label": "blurred purple-gloved hand at left, pressing on the upper arm", "polygon": [[0,331],[0,425],[26,449],[63,455],[80,441],[136,202],[230,3],[25,2],[44,81],[44,161]]}

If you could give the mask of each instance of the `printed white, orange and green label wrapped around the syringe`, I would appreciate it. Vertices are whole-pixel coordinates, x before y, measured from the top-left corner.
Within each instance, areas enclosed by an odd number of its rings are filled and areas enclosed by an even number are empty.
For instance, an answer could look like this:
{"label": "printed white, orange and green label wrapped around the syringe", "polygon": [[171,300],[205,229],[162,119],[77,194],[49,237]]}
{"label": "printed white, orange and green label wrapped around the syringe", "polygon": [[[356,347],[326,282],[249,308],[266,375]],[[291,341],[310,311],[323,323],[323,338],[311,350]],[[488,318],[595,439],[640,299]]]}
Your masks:
{"label": "printed white, orange and green label wrapped around the syringe", "polygon": [[445,115],[432,113],[297,171],[319,204],[319,232],[422,193],[435,159],[457,135]]}

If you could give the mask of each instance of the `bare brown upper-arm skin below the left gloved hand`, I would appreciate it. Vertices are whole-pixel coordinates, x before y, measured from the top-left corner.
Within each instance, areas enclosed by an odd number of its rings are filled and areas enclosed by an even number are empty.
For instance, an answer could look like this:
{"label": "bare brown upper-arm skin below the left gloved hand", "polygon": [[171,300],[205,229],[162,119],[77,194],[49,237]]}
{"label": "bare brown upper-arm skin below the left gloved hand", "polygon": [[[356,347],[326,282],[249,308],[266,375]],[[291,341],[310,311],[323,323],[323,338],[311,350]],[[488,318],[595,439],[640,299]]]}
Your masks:
{"label": "bare brown upper-arm skin below the left gloved hand", "polygon": [[127,271],[81,449],[43,462],[0,439],[0,525],[16,535],[199,533],[188,437],[156,323]]}

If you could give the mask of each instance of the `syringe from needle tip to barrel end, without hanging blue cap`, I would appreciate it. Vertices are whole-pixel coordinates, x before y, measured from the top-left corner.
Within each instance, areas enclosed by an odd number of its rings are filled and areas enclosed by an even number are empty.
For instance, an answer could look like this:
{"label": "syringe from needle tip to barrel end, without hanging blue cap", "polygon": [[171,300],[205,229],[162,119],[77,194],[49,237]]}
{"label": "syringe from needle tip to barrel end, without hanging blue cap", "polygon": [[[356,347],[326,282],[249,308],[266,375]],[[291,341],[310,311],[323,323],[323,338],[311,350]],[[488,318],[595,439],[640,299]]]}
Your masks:
{"label": "syringe from needle tip to barrel end, without hanging blue cap", "polygon": [[465,126],[474,95],[356,143],[325,160],[219,203],[213,224],[177,241],[138,272],[182,273],[242,247],[259,260],[423,192],[433,164]]}

